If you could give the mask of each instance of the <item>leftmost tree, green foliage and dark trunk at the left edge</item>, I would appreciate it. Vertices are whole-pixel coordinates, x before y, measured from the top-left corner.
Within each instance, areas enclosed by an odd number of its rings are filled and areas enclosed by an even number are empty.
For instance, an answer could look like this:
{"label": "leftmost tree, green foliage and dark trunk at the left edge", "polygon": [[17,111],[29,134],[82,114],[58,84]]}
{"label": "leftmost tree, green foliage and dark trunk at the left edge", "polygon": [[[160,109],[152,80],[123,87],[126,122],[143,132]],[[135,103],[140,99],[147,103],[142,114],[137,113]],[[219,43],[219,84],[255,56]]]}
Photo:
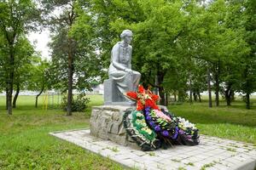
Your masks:
{"label": "leftmost tree, green foliage and dark trunk at the left edge", "polygon": [[3,68],[0,79],[3,84],[0,85],[6,90],[8,114],[11,115],[14,84],[16,91],[19,91],[22,76],[26,77],[24,70],[30,64],[26,59],[31,57],[33,51],[25,34],[29,30],[37,30],[36,21],[40,19],[40,12],[36,3],[31,0],[1,1],[0,11],[0,54],[3,55],[0,62],[0,67]]}

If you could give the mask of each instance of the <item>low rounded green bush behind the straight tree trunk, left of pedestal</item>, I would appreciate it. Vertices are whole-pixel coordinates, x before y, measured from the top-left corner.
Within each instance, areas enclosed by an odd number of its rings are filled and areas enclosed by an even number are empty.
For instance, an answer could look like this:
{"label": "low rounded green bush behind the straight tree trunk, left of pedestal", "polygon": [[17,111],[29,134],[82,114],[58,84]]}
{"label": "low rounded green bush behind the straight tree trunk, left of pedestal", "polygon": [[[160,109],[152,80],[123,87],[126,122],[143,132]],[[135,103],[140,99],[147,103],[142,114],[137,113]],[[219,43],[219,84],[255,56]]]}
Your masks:
{"label": "low rounded green bush behind the straight tree trunk, left of pedestal", "polygon": [[[75,99],[72,99],[71,111],[84,111],[87,107],[87,104],[90,102],[89,98],[86,98],[86,95],[79,94]],[[64,95],[61,102],[61,108],[64,111],[67,111],[67,96]]]}

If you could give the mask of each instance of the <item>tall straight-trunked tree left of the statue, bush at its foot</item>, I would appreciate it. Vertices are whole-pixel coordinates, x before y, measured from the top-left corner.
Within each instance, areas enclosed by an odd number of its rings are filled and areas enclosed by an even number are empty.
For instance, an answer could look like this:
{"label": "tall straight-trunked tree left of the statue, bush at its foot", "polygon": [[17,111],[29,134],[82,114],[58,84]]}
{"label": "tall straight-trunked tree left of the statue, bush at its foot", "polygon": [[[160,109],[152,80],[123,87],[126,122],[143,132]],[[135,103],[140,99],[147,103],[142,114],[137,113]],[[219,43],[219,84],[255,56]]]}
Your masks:
{"label": "tall straight-trunked tree left of the statue, bush at its foot", "polygon": [[[61,8],[59,16],[49,16],[49,25],[51,30],[55,31],[51,48],[53,48],[52,60],[67,68],[67,116],[72,115],[73,98],[73,59],[75,55],[76,43],[68,32],[73,26],[77,14],[74,12],[74,2],[70,1],[42,1],[46,13],[53,13],[55,8]],[[60,61],[64,59],[64,62]],[[67,62],[66,62],[67,61]],[[60,67],[59,67],[60,68]],[[63,68],[63,67],[62,67]],[[63,71],[63,70],[62,70]],[[66,75],[66,74],[65,74]]]}

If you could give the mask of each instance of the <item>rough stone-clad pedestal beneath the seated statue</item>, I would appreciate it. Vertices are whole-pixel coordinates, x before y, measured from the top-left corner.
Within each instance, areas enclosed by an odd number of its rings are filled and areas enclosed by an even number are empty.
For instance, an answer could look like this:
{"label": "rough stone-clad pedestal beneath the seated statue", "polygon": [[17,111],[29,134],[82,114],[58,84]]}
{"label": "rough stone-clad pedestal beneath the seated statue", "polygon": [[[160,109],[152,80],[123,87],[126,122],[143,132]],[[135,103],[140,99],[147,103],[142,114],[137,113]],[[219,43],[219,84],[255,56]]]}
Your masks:
{"label": "rough stone-clad pedestal beneath the seated statue", "polygon": [[92,108],[90,116],[90,134],[117,144],[138,146],[126,133],[123,116],[125,111],[134,110],[135,106],[102,105]]}

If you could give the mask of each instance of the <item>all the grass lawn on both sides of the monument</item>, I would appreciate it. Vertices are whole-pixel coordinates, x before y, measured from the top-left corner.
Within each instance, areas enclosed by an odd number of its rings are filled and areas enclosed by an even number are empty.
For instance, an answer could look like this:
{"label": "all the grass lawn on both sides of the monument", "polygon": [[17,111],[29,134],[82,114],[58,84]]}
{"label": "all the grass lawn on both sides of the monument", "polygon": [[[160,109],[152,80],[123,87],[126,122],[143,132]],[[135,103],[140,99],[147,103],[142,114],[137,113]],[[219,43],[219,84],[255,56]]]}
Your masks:
{"label": "all the grass lawn on both sides of the monument", "polygon": [[[253,100],[256,103],[256,99]],[[65,116],[55,107],[38,109],[34,97],[20,96],[13,116],[6,115],[5,98],[0,96],[0,169],[123,169],[119,164],[50,136],[49,132],[89,127],[92,105],[102,105],[102,96],[90,96],[84,112]],[[256,145],[256,108],[244,109],[244,103],[208,108],[207,103],[170,105],[169,110],[195,122],[202,134],[235,139]]]}

